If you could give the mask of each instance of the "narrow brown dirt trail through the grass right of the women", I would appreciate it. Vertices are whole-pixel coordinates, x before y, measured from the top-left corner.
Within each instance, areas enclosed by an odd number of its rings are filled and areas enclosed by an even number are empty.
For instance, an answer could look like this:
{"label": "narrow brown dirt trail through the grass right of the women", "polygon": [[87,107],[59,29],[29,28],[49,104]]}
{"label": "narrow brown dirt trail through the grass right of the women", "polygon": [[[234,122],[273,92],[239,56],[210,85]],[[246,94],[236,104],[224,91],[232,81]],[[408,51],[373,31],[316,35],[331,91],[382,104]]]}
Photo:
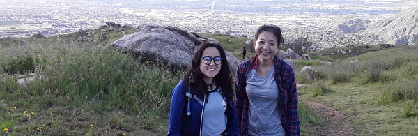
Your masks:
{"label": "narrow brown dirt trail through the grass right of the women", "polygon": [[[297,84],[296,86],[309,86],[309,84]],[[326,126],[320,129],[323,130],[324,135],[355,135],[354,125],[348,121],[350,116],[341,114],[338,110],[322,103],[316,103],[311,100],[307,100],[305,103],[327,117]]]}

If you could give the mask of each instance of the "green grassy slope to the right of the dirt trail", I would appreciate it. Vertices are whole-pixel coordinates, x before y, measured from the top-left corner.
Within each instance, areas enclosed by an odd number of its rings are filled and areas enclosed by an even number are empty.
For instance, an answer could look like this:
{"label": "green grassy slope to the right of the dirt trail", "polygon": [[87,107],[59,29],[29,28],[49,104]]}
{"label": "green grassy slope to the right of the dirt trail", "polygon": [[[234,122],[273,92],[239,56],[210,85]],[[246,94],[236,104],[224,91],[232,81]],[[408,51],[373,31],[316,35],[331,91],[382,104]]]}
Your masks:
{"label": "green grassy slope to the right of the dirt trail", "polygon": [[396,47],[316,66],[327,78],[309,82],[332,91],[304,87],[300,98],[347,115],[344,121],[354,124],[357,135],[418,135],[417,52],[418,47]]}

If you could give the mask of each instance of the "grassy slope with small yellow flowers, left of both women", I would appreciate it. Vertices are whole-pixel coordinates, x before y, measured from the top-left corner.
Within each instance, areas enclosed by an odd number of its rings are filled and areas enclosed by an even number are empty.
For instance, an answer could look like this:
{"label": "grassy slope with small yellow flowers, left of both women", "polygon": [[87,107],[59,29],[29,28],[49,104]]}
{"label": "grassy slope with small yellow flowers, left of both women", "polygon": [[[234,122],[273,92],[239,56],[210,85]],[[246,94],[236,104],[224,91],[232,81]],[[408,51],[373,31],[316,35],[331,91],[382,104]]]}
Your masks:
{"label": "grassy slope with small yellow flowers, left of both women", "polygon": [[[105,49],[123,36],[121,31],[107,31],[106,40],[100,40],[100,30],[82,33],[0,40],[5,45],[0,50],[0,135],[167,134],[171,90],[181,72]],[[20,40],[28,44],[15,42]],[[17,86],[17,76],[26,73],[44,78]]]}

